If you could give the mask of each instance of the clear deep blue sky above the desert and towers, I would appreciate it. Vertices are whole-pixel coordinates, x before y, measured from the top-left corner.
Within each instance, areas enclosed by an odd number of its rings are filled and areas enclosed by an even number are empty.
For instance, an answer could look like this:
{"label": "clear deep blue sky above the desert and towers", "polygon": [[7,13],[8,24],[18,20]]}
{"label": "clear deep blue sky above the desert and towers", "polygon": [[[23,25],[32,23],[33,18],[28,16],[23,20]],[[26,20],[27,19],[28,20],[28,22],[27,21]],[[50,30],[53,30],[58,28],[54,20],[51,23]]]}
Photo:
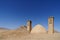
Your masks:
{"label": "clear deep blue sky above the desert and towers", "polygon": [[0,0],[0,27],[15,29],[27,20],[48,28],[48,17],[54,16],[55,30],[60,31],[59,0]]}

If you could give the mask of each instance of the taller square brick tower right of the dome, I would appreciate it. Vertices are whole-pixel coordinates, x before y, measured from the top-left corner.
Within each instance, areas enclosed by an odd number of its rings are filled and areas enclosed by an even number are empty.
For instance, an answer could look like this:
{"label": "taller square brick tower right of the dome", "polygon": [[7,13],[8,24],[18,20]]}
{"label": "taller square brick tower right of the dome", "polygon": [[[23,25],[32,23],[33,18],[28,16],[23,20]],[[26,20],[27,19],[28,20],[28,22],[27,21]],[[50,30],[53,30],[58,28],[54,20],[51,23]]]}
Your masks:
{"label": "taller square brick tower right of the dome", "polygon": [[48,34],[54,33],[54,17],[48,18]]}

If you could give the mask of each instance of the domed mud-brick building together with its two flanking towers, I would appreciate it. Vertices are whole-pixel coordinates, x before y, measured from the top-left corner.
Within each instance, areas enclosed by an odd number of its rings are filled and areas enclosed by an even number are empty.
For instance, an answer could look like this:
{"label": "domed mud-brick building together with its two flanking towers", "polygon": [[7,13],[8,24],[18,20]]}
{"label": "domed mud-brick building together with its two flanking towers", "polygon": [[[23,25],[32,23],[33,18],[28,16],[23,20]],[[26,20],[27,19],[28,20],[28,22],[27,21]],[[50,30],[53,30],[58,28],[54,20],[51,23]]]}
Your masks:
{"label": "domed mud-brick building together with its two flanking towers", "polygon": [[32,21],[28,20],[27,25],[24,27],[28,33],[54,33],[54,17],[48,18],[48,31],[44,28],[44,26],[37,24],[34,28],[32,28]]}

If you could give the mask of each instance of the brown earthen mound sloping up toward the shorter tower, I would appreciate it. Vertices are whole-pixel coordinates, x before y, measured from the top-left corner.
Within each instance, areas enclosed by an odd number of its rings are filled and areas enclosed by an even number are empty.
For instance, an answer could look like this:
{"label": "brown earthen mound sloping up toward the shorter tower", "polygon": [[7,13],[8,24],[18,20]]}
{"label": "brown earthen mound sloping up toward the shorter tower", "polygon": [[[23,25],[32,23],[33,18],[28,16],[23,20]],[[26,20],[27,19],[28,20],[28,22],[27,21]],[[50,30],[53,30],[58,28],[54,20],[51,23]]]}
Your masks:
{"label": "brown earthen mound sloping up toward the shorter tower", "polygon": [[0,38],[5,39],[5,38],[9,38],[9,37],[22,37],[24,35],[28,35],[29,33],[26,30],[26,27],[21,26],[20,28],[16,29],[16,30],[9,30],[9,31],[5,31],[0,33]]}

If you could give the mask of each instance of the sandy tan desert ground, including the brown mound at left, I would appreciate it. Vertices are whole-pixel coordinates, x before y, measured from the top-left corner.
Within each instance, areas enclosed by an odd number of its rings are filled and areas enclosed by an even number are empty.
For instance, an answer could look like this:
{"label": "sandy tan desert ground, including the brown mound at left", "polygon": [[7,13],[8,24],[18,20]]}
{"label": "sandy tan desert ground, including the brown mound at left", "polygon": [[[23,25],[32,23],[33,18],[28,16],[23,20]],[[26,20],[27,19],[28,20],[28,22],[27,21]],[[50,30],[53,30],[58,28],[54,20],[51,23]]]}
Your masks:
{"label": "sandy tan desert ground, including the brown mound at left", "polygon": [[28,33],[24,27],[0,32],[0,40],[60,40],[60,33]]}

